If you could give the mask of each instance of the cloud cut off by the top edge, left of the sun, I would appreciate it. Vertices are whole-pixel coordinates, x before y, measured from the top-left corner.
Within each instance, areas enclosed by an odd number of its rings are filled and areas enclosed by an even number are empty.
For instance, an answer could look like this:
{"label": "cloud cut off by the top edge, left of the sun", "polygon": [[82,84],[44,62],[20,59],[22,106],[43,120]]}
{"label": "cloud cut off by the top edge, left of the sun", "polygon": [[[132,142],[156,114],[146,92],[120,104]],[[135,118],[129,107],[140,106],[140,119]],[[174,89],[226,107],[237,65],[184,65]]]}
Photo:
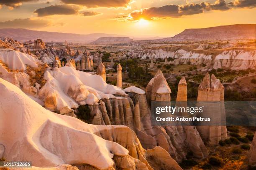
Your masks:
{"label": "cloud cut off by the top edge, left of the sun", "polygon": [[61,0],[66,4],[84,5],[91,7],[126,7],[130,0]]}

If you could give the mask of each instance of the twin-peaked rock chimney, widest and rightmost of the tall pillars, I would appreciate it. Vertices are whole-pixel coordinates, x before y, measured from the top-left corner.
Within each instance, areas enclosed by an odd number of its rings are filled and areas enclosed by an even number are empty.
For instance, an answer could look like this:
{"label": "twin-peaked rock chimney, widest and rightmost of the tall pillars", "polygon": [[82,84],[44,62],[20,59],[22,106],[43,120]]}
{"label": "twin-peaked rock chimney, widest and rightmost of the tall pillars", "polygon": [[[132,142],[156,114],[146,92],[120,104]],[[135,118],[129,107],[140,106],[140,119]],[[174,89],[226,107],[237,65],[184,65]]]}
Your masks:
{"label": "twin-peaked rock chimney, widest and rightmost of the tall pillars", "polygon": [[[217,101],[218,103],[214,103]],[[198,87],[197,103],[207,105],[202,113],[205,117],[214,117],[217,124],[225,123],[224,87],[215,75],[207,73]],[[226,126],[197,126],[202,140],[209,145],[218,145],[227,138]]]}

